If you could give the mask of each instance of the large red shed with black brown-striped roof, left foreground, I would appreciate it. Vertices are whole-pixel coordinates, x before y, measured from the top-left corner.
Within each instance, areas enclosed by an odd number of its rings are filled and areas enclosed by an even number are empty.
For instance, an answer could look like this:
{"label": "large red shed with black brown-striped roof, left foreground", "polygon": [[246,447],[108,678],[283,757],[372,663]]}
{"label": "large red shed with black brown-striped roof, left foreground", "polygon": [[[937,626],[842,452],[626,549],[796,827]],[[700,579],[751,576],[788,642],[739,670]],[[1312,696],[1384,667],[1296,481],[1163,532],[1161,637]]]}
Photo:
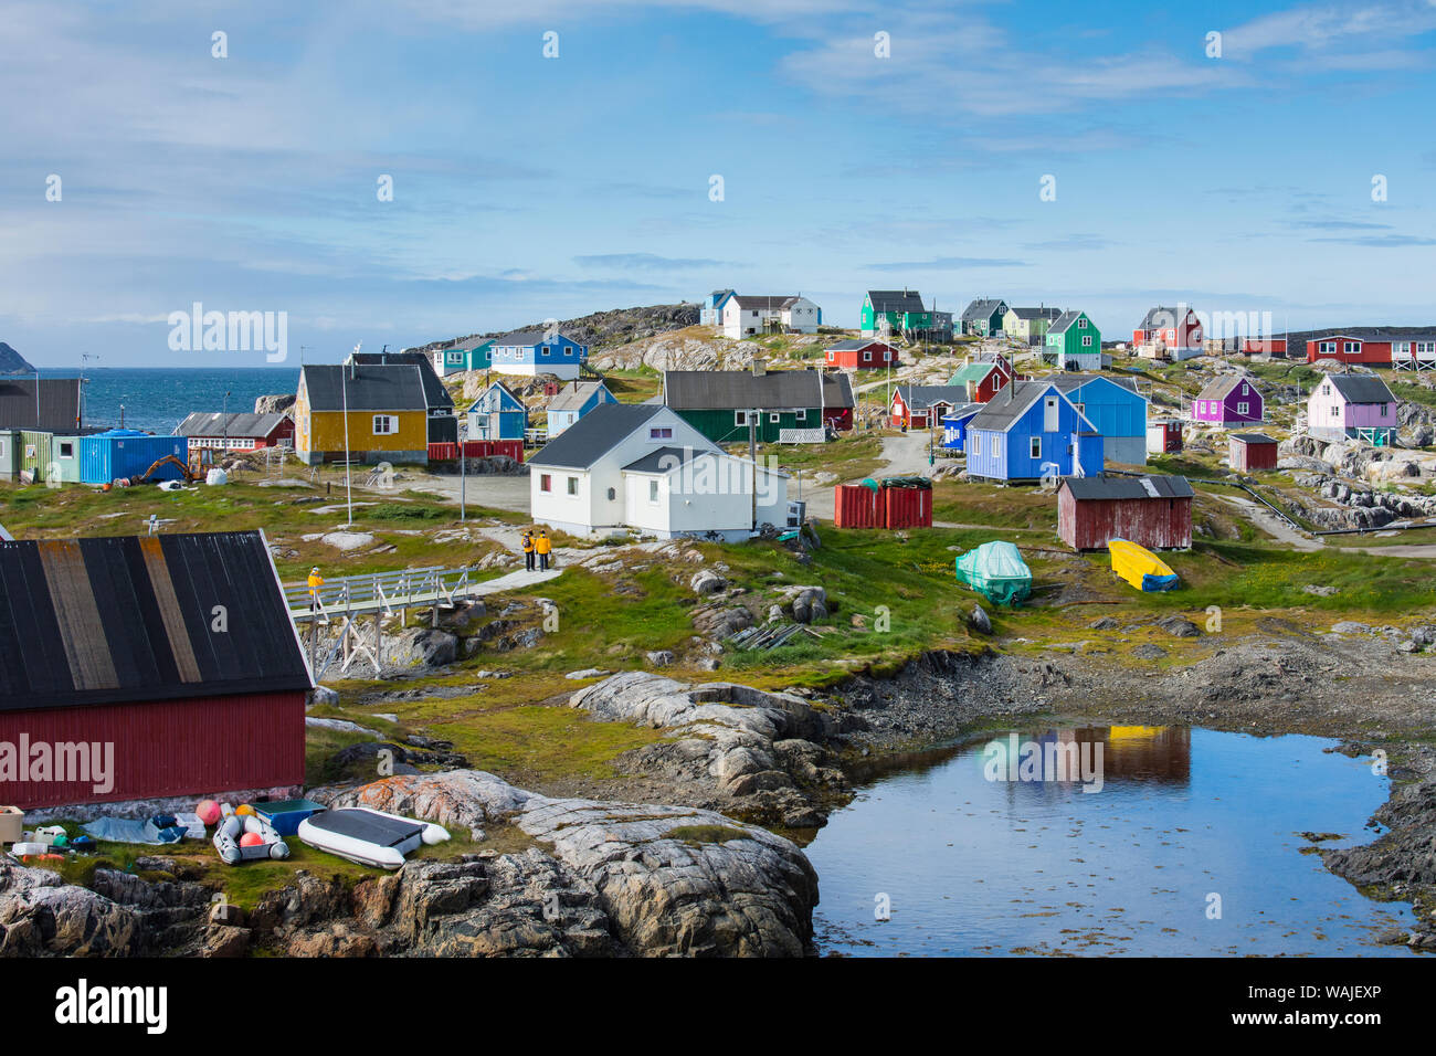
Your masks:
{"label": "large red shed with black brown-striped roof, left foreground", "polygon": [[294,786],[309,664],[261,532],[0,542],[0,799]]}

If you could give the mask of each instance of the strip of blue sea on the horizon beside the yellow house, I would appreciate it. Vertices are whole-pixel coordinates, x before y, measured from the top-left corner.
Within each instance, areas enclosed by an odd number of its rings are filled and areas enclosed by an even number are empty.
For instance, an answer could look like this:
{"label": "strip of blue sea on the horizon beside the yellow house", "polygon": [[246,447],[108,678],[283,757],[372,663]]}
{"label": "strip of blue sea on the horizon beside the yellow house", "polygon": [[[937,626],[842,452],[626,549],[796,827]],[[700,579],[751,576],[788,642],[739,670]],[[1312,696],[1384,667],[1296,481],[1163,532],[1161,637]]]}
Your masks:
{"label": "strip of blue sea on the horizon beside the yellow house", "polygon": [[[40,369],[42,378],[79,378],[78,369]],[[194,411],[253,411],[257,397],[294,392],[297,366],[134,366],[85,371],[85,424],[172,432]]]}

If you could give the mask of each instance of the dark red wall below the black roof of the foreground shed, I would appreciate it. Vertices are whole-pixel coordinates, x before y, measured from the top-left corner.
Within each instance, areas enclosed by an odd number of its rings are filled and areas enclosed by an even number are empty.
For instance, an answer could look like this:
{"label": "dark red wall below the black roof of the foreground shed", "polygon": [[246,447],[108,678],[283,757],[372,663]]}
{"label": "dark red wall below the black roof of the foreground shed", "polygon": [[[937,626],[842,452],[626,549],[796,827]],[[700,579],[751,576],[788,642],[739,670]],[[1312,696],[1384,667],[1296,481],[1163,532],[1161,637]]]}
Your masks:
{"label": "dark red wall below the black roof of the foreground shed", "polygon": [[205,796],[302,784],[304,694],[271,693],[141,704],[0,711],[0,741],[113,743],[113,787],[90,782],[4,782],[0,802],[22,809],[155,796]]}

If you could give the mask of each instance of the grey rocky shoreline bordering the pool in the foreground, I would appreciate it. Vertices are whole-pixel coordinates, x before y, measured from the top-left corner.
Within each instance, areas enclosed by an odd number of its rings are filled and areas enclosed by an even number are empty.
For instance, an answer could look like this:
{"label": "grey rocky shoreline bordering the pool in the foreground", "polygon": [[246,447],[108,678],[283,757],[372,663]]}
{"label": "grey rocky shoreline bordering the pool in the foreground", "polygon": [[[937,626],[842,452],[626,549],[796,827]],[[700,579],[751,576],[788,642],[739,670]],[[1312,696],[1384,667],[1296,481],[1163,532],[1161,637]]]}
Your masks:
{"label": "grey rocky shoreline bordering the pool in the foreground", "polygon": [[[345,885],[299,871],[248,914],[213,920],[208,886],[141,859],[88,886],[0,862],[0,955],[804,955],[819,876],[800,849],[854,780],[885,760],[954,744],[997,724],[1195,724],[1258,736],[1337,738],[1386,753],[1390,800],[1374,842],[1324,851],[1364,892],[1409,901],[1436,948],[1436,657],[1406,632],[1340,624],[1310,634],[1277,619],[1245,635],[1199,635],[1195,662],[1133,670],[1111,648],[1134,628],[1034,652],[929,652],[892,677],[829,691],[770,693],[630,671],[573,693],[597,721],[665,731],[592,789],[517,789],[477,770],[409,773],[312,789],[470,830],[516,849],[419,858]],[[1167,628],[1169,634],[1176,634]],[[1080,658],[1080,659],[1078,659]],[[462,760],[451,760],[462,764]],[[612,796],[612,799],[610,799]],[[773,832],[771,829],[777,829]],[[784,835],[793,836],[787,839]]]}

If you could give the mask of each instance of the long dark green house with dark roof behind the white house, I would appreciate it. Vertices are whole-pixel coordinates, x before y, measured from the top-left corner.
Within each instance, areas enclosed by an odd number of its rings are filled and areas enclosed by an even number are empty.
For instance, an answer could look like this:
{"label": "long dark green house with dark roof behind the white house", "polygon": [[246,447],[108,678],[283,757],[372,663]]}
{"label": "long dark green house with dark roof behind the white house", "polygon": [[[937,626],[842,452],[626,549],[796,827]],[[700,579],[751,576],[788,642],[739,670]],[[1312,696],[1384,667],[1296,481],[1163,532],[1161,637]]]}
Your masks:
{"label": "long dark green house with dark roof behind the white house", "polygon": [[788,431],[791,443],[820,443],[829,424],[847,428],[853,388],[846,374],[820,371],[665,371],[663,404],[715,444],[761,444]]}

